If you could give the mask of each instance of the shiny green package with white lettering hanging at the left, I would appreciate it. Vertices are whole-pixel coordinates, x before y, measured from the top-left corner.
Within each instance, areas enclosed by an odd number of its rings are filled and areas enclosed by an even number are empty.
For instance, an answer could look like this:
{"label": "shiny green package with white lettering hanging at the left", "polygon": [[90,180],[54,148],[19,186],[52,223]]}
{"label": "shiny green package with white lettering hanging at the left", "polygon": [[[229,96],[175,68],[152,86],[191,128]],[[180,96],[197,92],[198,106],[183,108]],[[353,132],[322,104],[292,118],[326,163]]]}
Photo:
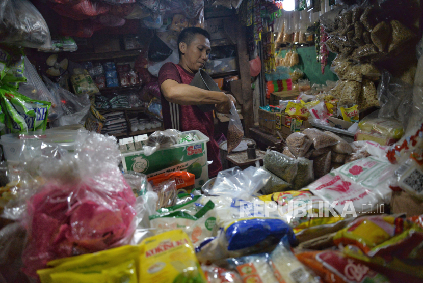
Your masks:
{"label": "shiny green package with white lettering hanging at the left", "polygon": [[[29,131],[46,129],[51,102],[30,99],[7,86],[4,86],[3,89],[6,91],[5,97],[9,99],[19,114],[25,118]],[[33,111],[35,116],[27,115],[25,109]]]}

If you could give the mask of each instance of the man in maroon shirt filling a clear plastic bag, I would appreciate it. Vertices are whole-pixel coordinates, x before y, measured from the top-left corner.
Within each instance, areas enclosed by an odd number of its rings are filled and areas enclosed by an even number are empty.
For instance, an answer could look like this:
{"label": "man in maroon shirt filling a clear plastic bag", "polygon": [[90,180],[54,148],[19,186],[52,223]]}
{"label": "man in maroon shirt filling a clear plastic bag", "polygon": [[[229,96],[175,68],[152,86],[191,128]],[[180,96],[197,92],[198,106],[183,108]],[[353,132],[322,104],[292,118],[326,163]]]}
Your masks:
{"label": "man in maroon shirt filling a clear plastic bag", "polygon": [[235,98],[223,92],[190,86],[194,75],[204,67],[210,53],[210,35],[199,27],[188,27],[178,36],[179,64],[168,62],[158,73],[165,129],[199,130],[210,138],[207,143],[209,178],[222,170],[219,146],[214,140],[213,111],[203,112],[196,105],[214,104],[217,111],[228,113]]}

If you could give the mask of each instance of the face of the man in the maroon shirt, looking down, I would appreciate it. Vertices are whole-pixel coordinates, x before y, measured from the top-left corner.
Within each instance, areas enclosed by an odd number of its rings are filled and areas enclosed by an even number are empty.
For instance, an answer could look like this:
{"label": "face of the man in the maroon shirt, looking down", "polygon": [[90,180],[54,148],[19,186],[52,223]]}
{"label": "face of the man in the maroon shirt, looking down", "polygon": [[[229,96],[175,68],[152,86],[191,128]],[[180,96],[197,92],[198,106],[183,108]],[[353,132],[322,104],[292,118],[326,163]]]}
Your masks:
{"label": "face of the man in the maroon shirt, looking down", "polygon": [[203,35],[196,34],[190,45],[185,46],[184,61],[195,72],[204,67],[210,53],[210,41]]}

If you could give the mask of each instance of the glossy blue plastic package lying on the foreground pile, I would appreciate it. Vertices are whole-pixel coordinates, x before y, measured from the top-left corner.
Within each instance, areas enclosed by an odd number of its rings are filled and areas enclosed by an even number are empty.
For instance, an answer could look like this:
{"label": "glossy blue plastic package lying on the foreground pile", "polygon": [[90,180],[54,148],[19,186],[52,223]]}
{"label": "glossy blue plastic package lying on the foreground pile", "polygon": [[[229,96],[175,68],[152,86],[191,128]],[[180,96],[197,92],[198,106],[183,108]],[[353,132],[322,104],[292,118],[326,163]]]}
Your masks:
{"label": "glossy blue plastic package lying on the foreground pile", "polygon": [[289,244],[297,245],[297,238],[289,225],[281,219],[251,218],[237,221],[225,229],[228,250],[252,247],[267,238],[273,238],[275,244],[285,235]]}

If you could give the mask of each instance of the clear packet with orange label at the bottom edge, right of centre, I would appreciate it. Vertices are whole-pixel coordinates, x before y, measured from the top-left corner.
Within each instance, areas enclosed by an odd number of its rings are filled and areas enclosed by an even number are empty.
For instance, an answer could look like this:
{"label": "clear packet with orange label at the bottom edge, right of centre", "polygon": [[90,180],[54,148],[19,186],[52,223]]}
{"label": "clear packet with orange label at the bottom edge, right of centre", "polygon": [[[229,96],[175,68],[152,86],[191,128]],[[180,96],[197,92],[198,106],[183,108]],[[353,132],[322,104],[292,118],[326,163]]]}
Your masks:
{"label": "clear packet with orange label at the bottom edge, right of centre", "polygon": [[265,254],[228,259],[227,261],[238,271],[244,283],[254,281],[278,283],[278,279],[272,272]]}

